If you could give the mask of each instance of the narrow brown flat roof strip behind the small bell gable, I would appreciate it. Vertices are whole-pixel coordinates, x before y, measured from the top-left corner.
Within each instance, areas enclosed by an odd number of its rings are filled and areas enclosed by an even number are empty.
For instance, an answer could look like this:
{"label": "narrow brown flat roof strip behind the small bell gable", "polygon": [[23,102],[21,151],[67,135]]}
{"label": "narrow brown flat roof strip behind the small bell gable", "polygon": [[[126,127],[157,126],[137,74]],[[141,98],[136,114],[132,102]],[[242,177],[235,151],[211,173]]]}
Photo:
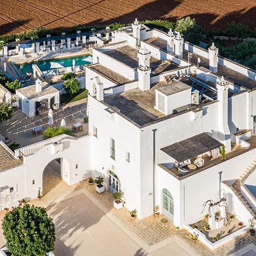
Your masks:
{"label": "narrow brown flat roof strip behind the small bell gable", "polygon": [[114,82],[115,84],[126,84],[126,82],[130,82],[130,80],[126,77],[119,75],[118,73],[110,70],[109,68],[106,68],[103,65],[96,64],[91,65],[88,68],[92,69],[93,71],[105,77],[106,79]]}

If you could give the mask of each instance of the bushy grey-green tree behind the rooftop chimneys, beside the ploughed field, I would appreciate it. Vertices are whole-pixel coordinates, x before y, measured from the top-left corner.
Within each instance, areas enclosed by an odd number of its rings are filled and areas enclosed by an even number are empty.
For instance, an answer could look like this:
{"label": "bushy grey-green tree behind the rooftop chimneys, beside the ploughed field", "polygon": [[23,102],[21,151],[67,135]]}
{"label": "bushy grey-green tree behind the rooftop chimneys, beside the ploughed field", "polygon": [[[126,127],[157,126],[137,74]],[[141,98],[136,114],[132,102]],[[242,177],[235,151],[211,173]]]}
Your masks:
{"label": "bushy grey-green tree behind the rooftop chimneys, beside the ploughed field", "polygon": [[201,27],[190,16],[176,21],[175,30],[184,35],[184,39],[193,44],[199,44],[201,40]]}

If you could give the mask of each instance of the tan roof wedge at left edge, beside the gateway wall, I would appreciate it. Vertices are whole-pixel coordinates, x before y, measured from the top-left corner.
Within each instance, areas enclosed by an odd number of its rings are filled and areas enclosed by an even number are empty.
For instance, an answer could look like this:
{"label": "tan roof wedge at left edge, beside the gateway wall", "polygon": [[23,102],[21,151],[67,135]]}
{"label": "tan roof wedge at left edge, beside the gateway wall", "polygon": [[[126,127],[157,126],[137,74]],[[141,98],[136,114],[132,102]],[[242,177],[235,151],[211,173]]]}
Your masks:
{"label": "tan roof wedge at left edge, beside the gateway wall", "polygon": [[2,144],[0,144],[0,172],[9,170],[22,164],[21,159],[16,159]]}

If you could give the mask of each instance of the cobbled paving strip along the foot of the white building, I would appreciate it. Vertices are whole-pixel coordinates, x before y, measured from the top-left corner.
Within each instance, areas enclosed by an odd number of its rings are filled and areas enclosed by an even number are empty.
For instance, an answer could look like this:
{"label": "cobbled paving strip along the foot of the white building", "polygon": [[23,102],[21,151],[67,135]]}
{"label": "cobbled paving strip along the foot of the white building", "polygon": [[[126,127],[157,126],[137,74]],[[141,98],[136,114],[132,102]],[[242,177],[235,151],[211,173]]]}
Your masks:
{"label": "cobbled paving strip along the foot of the white building", "polygon": [[[93,195],[93,197],[96,197],[96,199],[102,205],[104,205],[102,210],[112,212],[114,217],[122,222],[123,228],[129,229],[131,233],[135,234],[135,236],[142,241],[142,245],[144,243],[143,247],[147,251],[151,251],[150,247],[157,243],[163,242],[172,236],[179,237],[181,240],[187,243],[187,245],[191,248],[189,251],[191,252],[192,249],[194,250],[193,255],[229,255],[230,253],[234,253],[234,251],[240,250],[242,247],[249,245],[250,243],[256,243],[256,236],[251,237],[249,232],[247,232],[226,243],[224,246],[219,247],[218,249],[210,250],[200,241],[193,242],[191,238],[189,238],[189,233],[187,230],[176,230],[175,226],[170,221],[167,223],[162,223],[161,220],[164,218],[164,216],[150,216],[144,218],[143,220],[132,220],[129,211],[125,207],[119,210],[113,208],[113,197],[109,192],[105,191],[104,193],[98,194],[95,191],[94,185],[89,185],[86,183],[86,181],[82,185],[91,195]],[[168,250],[166,248],[171,250],[171,243],[163,246],[163,250]]]}

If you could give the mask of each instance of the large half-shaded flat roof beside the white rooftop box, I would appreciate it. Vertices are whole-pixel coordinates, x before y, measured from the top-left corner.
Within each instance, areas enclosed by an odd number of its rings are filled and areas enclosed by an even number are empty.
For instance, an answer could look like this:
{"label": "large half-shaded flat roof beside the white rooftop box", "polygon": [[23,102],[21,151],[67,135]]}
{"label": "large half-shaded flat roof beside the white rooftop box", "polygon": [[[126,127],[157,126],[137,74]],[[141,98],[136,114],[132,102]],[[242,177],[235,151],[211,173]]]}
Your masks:
{"label": "large half-shaded flat roof beside the white rooftop box", "polygon": [[[104,97],[105,104],[114,111],[125,115],[126,118],[138,126],[148,125],[166,117],[163,113],[154,108],[155,89],[166,87],[169,83],[158,82],[151,85],[150,90],[143,92],[141,89],[131,89],[125,92]],[[175,82],[172,83],[174,86]],[[187,85],[185,85],[187,86]]]}

